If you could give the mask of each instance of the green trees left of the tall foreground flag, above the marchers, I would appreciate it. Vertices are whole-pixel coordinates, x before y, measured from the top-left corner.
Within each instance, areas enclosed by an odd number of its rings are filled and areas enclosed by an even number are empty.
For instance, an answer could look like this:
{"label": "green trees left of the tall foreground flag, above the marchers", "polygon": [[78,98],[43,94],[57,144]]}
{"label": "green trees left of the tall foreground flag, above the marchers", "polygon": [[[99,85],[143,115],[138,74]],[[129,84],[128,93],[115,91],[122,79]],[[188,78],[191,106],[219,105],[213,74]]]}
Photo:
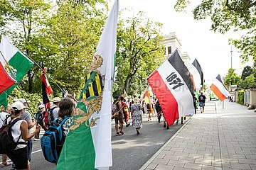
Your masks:
{"label": "green trees left of the tall foreground flag, above the marchers", "polygon": [[[61,0],[1,1],[0,28],[16,47],[70,93],[80,91],[105,23],[107,2]],[[96,4],[103,4],[96,8]],[[41,69],[35,65],[23,79],[29,93],[41,91]],[[82,75],[82,76],[81,76]],[[54,95],[60,89],[51,79]]]}

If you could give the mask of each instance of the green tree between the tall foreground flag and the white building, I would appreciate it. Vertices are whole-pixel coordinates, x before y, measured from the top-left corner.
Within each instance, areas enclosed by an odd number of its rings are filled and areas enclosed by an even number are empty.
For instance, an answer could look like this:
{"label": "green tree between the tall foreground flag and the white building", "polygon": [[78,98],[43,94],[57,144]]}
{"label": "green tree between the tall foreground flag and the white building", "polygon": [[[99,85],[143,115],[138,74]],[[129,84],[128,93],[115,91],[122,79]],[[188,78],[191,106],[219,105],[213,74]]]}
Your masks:
{"label": "green tree between the tall foreground flag and the white building", "polygon": [[159,31],[161,23],[154,23],[137,16],[119,20],[117,28],[117,78],[114,94],[134,94],[143,89],[146,77],[164,60],[163,37]]}

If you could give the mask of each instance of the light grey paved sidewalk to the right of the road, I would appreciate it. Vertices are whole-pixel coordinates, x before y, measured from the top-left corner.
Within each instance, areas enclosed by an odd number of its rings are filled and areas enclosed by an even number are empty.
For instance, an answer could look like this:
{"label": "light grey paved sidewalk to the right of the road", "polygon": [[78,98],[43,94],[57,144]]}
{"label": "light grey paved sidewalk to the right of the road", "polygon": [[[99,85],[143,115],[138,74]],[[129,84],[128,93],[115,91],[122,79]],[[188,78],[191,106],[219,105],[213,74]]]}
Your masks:
{"label": "light grey paved sidewalk to the right of the road", "polygon": [[142,169],[256,169],[256,113],[210,101]]}

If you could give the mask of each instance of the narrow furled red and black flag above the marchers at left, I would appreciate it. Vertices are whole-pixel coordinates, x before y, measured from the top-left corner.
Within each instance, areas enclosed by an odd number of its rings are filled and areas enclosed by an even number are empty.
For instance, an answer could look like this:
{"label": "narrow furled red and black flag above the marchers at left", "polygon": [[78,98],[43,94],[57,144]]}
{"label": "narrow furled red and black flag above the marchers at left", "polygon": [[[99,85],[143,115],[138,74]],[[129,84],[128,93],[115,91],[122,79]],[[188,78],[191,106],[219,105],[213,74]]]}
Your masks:
{"label": "narrow furled red and black flag above the marchers at left", "polygon": [[42,80],[42,95],[43,95],[43,104],[46,105],[46,109],[50,108],[50,99],[49,95],[53,93],[53,89],[51,89],[48,79],[46,77],[46,69],[43,67],[43,71],[41,73]]}

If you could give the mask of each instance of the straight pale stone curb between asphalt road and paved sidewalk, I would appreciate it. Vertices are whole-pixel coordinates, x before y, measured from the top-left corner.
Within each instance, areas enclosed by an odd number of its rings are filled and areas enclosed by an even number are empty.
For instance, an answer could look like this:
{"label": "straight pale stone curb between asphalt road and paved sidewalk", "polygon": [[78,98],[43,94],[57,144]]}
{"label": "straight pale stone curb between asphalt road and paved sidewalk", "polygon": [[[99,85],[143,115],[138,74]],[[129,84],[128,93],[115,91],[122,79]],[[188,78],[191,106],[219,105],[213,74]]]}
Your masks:
{"label": "straight pale stone curb between asphalt road and paved sidewalk", "polygon": [[186,123],[184,123],[184,125],[176,132],[174,133],[174,135],[139,169],[139,170],[144,170],[146,169],[147,166],[149,166],[149,164],[151,164],[151,162],[153,162],[153,160],[160,154],[160,152],[162,150],[164,150],[164,148],[169,145],[169,143],[174,140],[174,137],[176,137],[176,135],[178,135],[179,132],[181,132],[181,130],[183,130],[183,128],[188,124],[188,122],[190,122],[190,120],[193,118],[193,115],[191,116],[190,119],[188,119],[188,121],[186,121]]}

